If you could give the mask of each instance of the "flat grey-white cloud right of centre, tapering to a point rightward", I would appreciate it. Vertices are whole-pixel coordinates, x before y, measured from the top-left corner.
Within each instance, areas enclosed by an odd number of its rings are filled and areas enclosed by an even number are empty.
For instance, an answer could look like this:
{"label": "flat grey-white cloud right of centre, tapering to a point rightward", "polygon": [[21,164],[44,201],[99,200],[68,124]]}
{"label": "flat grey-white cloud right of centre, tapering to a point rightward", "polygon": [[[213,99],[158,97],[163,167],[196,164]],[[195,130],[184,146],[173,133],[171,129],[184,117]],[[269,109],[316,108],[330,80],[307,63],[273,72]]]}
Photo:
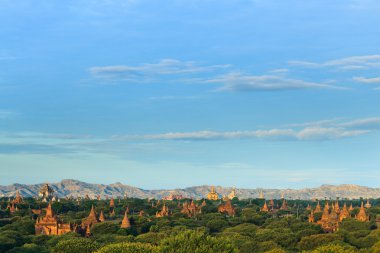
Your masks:
{"label": "flat grey-white cloud right of centre, tapering to a point rightward", "polygon": [[220,91],[279,91],[297,89],[344,89],[325,83],[307,82],[276,75],[244,75],[230,73],[205,81],[221,84]]}

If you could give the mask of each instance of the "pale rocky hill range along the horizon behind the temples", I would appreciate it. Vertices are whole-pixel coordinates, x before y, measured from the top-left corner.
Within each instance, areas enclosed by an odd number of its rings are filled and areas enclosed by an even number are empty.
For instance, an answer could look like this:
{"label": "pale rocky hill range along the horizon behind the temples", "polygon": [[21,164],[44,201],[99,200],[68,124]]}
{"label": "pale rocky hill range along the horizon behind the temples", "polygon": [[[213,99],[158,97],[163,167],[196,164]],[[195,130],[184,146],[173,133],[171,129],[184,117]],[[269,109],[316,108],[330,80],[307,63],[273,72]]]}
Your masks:
{"label": "pale rocky hill range along the horizon behind the temples", "polygon": [[[100,195],[105,197],[122,197],[127,194],[128,197],[136,198],[156,198],[168,196],[169,194],[181,194],[184,197],[200,199],[204,198],[210,186],[193,186],[184,189],[173,190],[144,190],[137,187],[124,185],[121,183],[115,183],[110,185],[104,184],[89,184],[78,180],[65,179],[59,183],[50,184],[57,197],[85,197],[88,195],[90,198],[96,198]],[[39,189],[43,184],[24,185],[13,184],[9,186],[0,186],[0,197],[13,197],[16,191],[19,190],[24,197],[33,197],[38,194]],[[215,190],[221,195],[228,195],[231,192],[231,187],[216,186]],[[284,194],[285,198],[292,199],[324,199],[326,198],[350,198],[357,199],[364,198],[380,198],[380,188],[370,188],[359,185],[343,184],[343,185],[322,185],[318,188],[305,188],[305,189],[242,189],[237,188],[236,193],[239,198],[257,198],[260,191],[264,192],[267,199],[279,199],[281,194]]]}

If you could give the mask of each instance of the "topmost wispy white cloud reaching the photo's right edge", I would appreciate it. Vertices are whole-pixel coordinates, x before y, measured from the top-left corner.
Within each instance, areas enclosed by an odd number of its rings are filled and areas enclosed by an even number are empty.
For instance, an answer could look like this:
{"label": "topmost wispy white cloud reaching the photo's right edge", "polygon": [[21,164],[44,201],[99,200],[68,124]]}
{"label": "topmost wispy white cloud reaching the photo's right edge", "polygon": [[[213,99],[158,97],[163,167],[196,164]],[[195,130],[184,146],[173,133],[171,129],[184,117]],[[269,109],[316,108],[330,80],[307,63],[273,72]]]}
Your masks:
{"label": "topmost wispy white cloud reaching the photo's right edge", "polygon": [[326,62],[289,61],[289,65],[307,68],[333,67],[339,70],[380,68],[380,55],[352,56]]}

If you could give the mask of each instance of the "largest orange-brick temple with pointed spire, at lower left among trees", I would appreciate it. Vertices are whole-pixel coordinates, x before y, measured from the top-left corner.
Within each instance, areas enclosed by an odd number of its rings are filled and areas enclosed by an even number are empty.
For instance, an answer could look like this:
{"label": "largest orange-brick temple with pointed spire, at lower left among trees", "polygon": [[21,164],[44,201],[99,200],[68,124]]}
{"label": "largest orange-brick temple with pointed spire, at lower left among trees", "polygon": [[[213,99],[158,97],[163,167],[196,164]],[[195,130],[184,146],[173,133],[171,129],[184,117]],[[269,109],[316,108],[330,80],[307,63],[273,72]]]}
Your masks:
{"label": "largest orange-brick temple with pointed spire, at lower left among trees", "polygon": [[46,208],[45,216],[37,218],[35,224],[36,235],[62,235],[71,231],[72,229],[69,223],[61,222],[59,218],[53,214],[50,203]]}

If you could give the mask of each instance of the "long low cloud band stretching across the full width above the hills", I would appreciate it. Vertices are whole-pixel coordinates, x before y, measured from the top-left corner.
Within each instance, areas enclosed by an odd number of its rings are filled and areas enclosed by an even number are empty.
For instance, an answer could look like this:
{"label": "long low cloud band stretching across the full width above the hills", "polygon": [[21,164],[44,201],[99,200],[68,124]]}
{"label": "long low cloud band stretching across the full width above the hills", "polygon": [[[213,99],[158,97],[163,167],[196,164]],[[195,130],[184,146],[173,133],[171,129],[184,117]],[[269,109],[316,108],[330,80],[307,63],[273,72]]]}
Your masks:
{"label": "long low cloud band stretching across the full width above the hills", "polygon": [[355,120],[321,120],[287,127],[236,131],[190,131],[141,135],[114,135],[95,137],[56,133],[0,132],[0,153],[110,153],[123,150],[157,152],[160,141],[329,141],[351,138],[380,131],[380,117]]}

